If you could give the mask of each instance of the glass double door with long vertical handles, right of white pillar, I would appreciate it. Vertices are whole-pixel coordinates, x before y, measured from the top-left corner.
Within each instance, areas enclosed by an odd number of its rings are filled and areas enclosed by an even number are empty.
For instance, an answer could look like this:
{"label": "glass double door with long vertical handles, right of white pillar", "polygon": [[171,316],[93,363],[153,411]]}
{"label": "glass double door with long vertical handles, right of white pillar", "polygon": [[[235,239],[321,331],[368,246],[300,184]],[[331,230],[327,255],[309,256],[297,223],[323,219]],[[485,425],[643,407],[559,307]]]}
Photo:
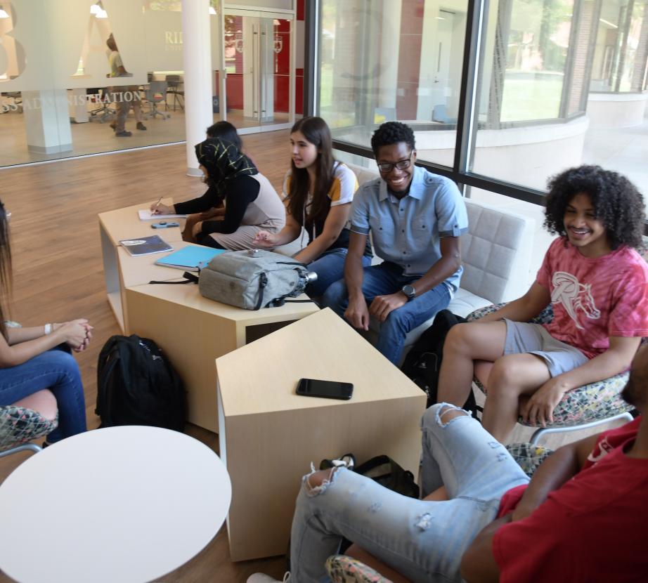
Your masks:
{"label": "glass double door with long vertical handles, right of white pillar", "polygon": [[285,129],[292,125],[293,37],[291,15],[238,10],[224,14],[226,109],[223,112],[241,133]]}

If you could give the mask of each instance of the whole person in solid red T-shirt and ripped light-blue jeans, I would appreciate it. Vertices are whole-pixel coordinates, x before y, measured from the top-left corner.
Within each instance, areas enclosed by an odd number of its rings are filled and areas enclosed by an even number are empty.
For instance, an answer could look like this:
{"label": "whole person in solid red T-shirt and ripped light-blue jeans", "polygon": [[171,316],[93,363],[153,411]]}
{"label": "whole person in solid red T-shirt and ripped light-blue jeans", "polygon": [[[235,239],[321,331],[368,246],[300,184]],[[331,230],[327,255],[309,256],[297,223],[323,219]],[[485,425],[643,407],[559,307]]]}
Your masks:
{"label": "whole person in solid red T-shirt and ripped light-blue jeans", "polygon": [[[648,348],[623,398],[648,402]],[[564,445],[529,478],[503,445],[455,405],[422,419],[416,500],[335,468],[302,480],[284,581],[325,579],[342,537],[412,582],[575,583],[644,580],[648,424],[642,417]],[[380,570],[380,569],[379,569]],[[271,582],[255,574],[248,583]]]}

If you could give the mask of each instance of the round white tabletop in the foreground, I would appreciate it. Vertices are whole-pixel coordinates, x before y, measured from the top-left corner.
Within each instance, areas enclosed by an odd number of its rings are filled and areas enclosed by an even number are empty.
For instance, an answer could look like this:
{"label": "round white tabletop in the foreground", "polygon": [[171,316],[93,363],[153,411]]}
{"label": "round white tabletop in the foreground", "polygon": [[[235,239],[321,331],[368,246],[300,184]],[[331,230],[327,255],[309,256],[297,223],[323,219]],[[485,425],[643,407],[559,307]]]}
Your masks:
{"label": "round white tabletop in the foreground", "polygon": [[0,569],[21,583],[143,583],[189,561],[231,502],[219,457],[157,427],[88,431],[0,486]]}

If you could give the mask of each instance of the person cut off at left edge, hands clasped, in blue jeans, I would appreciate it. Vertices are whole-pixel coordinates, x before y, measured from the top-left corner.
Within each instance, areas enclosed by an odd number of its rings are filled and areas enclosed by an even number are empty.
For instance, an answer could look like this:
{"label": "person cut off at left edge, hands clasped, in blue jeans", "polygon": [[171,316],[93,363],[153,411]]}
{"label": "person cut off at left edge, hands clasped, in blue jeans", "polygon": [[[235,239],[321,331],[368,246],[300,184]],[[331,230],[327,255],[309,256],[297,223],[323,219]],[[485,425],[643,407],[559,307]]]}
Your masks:
{"label": "person cut off at left edge, hands clasped, in blue jeans", "polygon": [[92,338],[88,320],[10,328],[5,324],[11,290],[8,216],[0,202],[0,406],[48,388],[58,405],[58,428],[46,445],[86,431],[81,373],[70,349],[81,352]]}

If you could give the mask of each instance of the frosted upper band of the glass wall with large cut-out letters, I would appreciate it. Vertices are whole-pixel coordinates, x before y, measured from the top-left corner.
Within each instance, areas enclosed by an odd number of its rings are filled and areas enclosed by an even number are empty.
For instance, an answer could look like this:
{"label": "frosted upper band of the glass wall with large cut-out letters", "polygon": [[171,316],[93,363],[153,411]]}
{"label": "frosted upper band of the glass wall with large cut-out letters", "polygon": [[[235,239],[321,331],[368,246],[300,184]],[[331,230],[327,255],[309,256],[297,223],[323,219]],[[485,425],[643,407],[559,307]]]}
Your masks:
{"label": "frosted upper band of the glass wall with large cut-out letters", "polygon": [[[147,72],[183,70],[181,12],[143,10],[141,0],[103,0],[108,18],[95,18],[96,0],[12,0],[14,19],[0,20],[0,91],[84,89],[145,84]],[[1,4],[1,3],[0,3]],[[221,60],[217,16],[209,16],[214,70]],[[131,78],[108,79],[112,32]],[[79,58],[83,74],[77,74]]]}

